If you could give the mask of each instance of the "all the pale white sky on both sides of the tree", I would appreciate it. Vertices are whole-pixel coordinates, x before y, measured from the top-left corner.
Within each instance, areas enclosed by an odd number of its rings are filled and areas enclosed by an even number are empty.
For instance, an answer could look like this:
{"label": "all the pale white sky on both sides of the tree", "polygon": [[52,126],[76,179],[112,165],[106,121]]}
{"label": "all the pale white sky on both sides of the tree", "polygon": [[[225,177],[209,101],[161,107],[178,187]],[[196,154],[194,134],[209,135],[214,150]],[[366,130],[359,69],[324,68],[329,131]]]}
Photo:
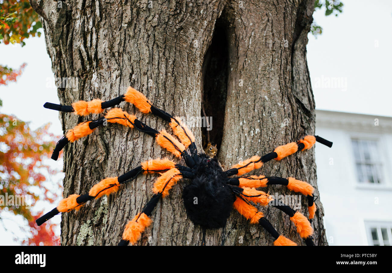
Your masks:
{"label": "all the pale white sky on both sides of the tree", "polygon": [[[308,35],[307,60],[316,109],[392,116],[392,1],[342,2],[343,13],[338,17],[316,11],[313,17],[323,33],[317,38]],[[47,101],[58,103],[44,35],[25,42],[24,48],[0,44],[1,65],[19,68],[27,63],[16,83],[0,86],[0,112],[30,121],[33,129],[50,122],[49,131],[62,135],[58,114],[43,107]],[[62,160],[51,164],[62,170]],[[54,222],[60,222],[60,217]],[[15,216],[6,222],[8,230],[18,230],[23,223]],[[12,237],[0,225],[0,245],[16,245]]]}

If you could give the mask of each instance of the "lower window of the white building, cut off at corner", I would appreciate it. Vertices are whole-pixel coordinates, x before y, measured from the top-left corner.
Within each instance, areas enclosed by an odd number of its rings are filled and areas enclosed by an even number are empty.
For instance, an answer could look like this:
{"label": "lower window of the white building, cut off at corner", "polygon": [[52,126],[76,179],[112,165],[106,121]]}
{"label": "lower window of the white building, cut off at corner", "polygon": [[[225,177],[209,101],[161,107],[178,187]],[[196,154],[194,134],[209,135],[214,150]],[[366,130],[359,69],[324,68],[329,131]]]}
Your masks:
{"label": "lower window of the white building, cut off at corner", "polygon": [[392,223],[367,223],[368,241],[370,246],[392,245]]}

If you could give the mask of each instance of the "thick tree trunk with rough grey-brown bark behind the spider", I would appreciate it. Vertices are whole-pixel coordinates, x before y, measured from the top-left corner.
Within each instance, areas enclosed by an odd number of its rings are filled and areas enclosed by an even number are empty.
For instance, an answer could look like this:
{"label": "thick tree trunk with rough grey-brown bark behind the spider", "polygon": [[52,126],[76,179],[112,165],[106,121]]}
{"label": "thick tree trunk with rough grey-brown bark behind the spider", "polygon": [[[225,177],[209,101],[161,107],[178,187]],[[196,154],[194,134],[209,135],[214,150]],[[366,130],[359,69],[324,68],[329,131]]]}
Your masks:
{"label": "thick tree trunk with rough grey-brown bark behind the spider", "polygon": [[[219,159],[226,169],[314,133],[314,99],[306,61],[313,0],[30,1],[42,16],[55,77],[78,79],[77,88],[58,88],[62,104],[95,98],[106,101],[133,86],[158,108],[187,117],[189,122],[200,117],[204,96],[213,121],[211,136],[219,144]],[[215,50],[211,58],[205,58],[210,46]],[[208,67],[202,73],[204,60]],[[151,114],[142,115],[127,103],[120,107],[152,128],[170,131],[166,122]],[[87,118],[60,114],[64,131]],[[192,129],[201,150],[201,129]],[[142,161],[164,156],[171,157],[152,137],[137,130],[121,125],[99,128],[64,149],[64,196],[87,193],[105,177],[119,176]],[[294,176],[309,181],[318,195],[314,149],[266,163],[254,174]],[[62,245],[118,244],[127,221],[151,198],[154,178],[141,176],[108,198],[62,214]],[[182,204],[185,183],[181,181],[158,203],[154,222],[138,244],[201,244],[201,228],[187,220]],[[293,194],[283,186],[266,191]],[[302,197],[301,212],[308,215]],[[315,244],[325,245],[323,208],[319,200],[316,204]],[[304,244],[287,215],[274,207],[260,210],[280,234]],[[236,211],[224,230],[206,234],[207,245],[272,242],[272,236]]]}

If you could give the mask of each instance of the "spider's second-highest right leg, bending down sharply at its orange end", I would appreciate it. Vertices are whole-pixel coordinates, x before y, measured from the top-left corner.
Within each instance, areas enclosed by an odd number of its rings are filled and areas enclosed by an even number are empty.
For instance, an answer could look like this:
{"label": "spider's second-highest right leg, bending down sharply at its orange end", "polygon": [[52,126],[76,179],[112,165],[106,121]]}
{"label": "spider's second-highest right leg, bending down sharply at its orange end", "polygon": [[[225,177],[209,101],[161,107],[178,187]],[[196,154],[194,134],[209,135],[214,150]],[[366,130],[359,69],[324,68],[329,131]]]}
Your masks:
{"label": "spider's second-highest right leg, bending down sharply at its orange end", "polygon": [[269,185],[285,185],[290,191],[300,192],[307,196],[309,219],[314,218],[316,213],[316,204],[314,203],[314,188],[307,182],[296,180],[295,178],[281,178],[281,177],[265,177],[261,176],[239,176],[235,178],[229,178],[227,183],[238,187],[249,187],[249,188],[260,188],[267,187]]}

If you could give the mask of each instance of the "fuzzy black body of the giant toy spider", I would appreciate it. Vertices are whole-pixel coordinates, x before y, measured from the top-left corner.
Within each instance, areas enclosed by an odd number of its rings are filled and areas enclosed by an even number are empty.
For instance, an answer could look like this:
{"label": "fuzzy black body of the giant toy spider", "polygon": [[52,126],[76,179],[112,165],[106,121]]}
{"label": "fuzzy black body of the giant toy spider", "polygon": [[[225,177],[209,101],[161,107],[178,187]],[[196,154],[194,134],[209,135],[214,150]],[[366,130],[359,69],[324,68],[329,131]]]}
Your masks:
{"label": "fuzzy black body of the giant toy spider", "polygon": [[224,227],[236,197],[218,160],[199,154],[194,172],[195,178],[182,194],[189,219],[203,228]]}

